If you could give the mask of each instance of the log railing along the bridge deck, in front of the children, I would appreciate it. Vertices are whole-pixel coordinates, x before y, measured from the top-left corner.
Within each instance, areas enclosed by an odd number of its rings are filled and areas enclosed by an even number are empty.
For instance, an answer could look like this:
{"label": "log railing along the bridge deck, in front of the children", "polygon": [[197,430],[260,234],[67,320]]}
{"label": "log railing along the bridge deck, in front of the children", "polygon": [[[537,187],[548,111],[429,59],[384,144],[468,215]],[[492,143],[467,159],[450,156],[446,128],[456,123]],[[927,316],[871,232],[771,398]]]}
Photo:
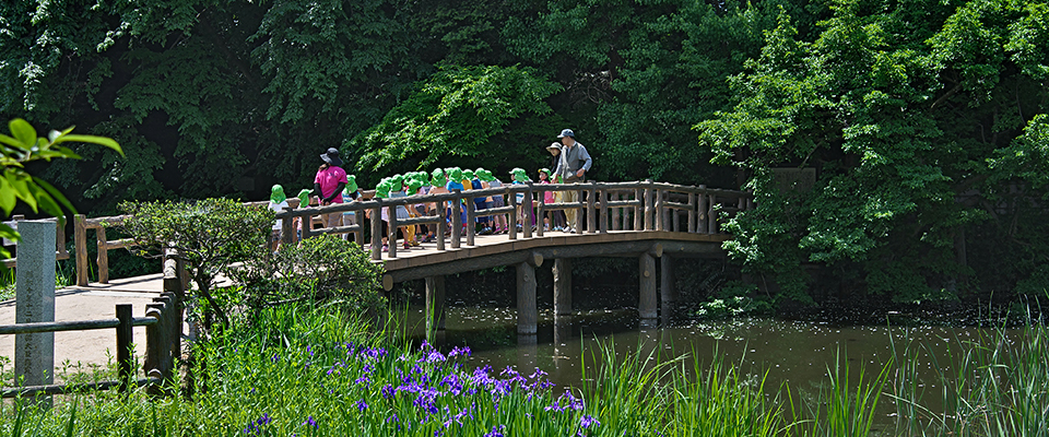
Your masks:
{"label": "log railing along the bridge deck, in front of the children", "polygon": [[[576,191],[578,202],[545,203],[545,191],[568,192]],[[367,198],[366,193],[365,198]],[[369,217],[370,225],[370,255],[373,260],[382,259],[382,222],[375,220],[382,215],[386,209],[388,218],[387,238],[396,241],[397,228],[409,225],[434,225],[437,250],[461,247],[462,239],[467,246],[475,244],[475,229],[472,225],[478,217],[506,215],[508,221],[507,238],[518,239],[518,200],[517,194],[523,194],[522,208],[524,224],[520,234],[523,238],[532,238],[532,223],[535,223],[534,234],[544,235],[542,217],[546,211],[577,210],[577,223],[571,226],[584,233],[608,233],[611,231],[661,231],[698,234],[719,234],[719,218],[731,216],[739,211],[751,209],[753,198],[744,191],[711,189],[705,186],[680,186],[673,184],[653,182],[650,180],[636,182],[597,182],[587,184],[520,184],[506,185],[498,188],[473,190],[453,190],[437,194],[416,194],[391,199],[358,200],[349,203],[338,203],[326,206],[295,208],[276,214],[282,221],[282,240],[293,244],[298,238],[309,238],[315,234],[354,234],[358,243],[364,241],[364,220]],[[540,196],[535,196],[540,194]],[[506,205],[476,210],[474,198],[505,196]],[[416,204],[432,204],[427,208],[428,215],[413,216],[408,220],[397,218],[397,208],[412,209]],[[358,217],[357,223],[311,229],[311,226],[293,225],[298,217],[303,222],[313,222],[313,217],[352,212]],[[464,215],[464,216],[463,216]],[[586,217],[586,218],[584,218]],[[683,218],[684,217],[684,218]],[[586,220],[586,226],[582,221]],[[684,223],[682,223],[684,222]],[[298,232],[302,236],[298,236]],[[447,231],[447,232],[446,232]],[[446,236],[447,234],[447,236]],[[448,241],[446,243],[446,238]],[[386,257],[397,258],[397,245],[386,246]]]}

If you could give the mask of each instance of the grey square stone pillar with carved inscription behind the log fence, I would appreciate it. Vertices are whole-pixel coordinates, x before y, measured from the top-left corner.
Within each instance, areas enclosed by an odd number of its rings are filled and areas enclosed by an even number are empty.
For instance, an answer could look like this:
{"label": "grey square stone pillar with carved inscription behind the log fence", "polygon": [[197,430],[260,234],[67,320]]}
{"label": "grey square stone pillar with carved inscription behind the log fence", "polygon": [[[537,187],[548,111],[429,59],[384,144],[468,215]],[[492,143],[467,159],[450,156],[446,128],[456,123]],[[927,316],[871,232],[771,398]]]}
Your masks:
{"label": "grey square stone pillar with carved inscription behind the log fence", "polygon": [[[54,220],[19,223],[14,318],[16,323],[55,321]],[[55,381],[55,333],[17,334],[14,339],[14,375],[25,386]]]}

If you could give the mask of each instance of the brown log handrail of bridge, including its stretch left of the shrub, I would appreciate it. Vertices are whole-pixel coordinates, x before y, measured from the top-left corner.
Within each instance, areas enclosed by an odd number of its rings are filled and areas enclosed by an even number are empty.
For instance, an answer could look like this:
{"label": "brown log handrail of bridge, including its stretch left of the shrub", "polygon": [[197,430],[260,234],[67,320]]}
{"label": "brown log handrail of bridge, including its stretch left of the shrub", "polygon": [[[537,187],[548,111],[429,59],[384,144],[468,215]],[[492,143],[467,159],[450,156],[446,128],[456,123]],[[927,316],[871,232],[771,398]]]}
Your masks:
{"label": "brown log handrail of bridge, including its stretch left of the shrub", "polygon": [[[276,213],[276,218],[282,225],[283,244],[294,244],[296,229],[293,228],[295,218],[310,217],[311,223],[323,214],[332,213],[354,213],[357,216],[357,223],[335,227],[326,227],[313,229],[313,226],[305,226],[302,238],[309,238],[320,234],[355,234],[358,243],[364,243],[365,231],[369,229],[372,238],[372,259],[381,260],[382,255],[379,246],[381,235],[377,235],[381,229],[381,222],[372,221],[372,225],[364,223],[365,215],[378,217],[381,209],[396,209],[397,206],[409,206],[420,203],[429,203],[438,205],[436,215],[423,215],[408,220],[397,221],[396,226],[391,226],[396,233],[399,226],[411,226],[422,224],[436,224],[439,228],[437,235],[437,249],[446,249],[446,238],[450,239],[451,248],[460,247],[462,239],[465,239],[467,246],[474,245],[474,235],[472,226],[467,226],[465,235],[460,235],[463,231],[461,225],[452,224],[450,236],[445,236],[445,227],[449,225],[446,221],[448,209],[455,210],[452,222],[458,221],[458,214],[465,212],[468,221],[478,217],[491,217],[496,215],[508,215],[510,223],[508,238],[517,239],[517,194],[541,197],[542,193],[577,191],[585,192],[586,196],[579,196],[577,202],[534,202],[532,209],[526,209],[527,220],[534,220],[538,226],[542,226],[542,216],[549,211],[576,210],[579,211],[579,220],[586,216],[586,223],[569,224],[569,226],[586,227],[588,232],[609,232],[609,231],[673,231],[685,233],[719,233],[718,212],[716,205],[732,204],[732,208],[723,208],[720,211],[733,213],[754,208],[753,196],[744,191],[712,189],[706,186],[682,186],[675,184],[658,182],[651,180],[626,181],[626,182],[599,182],[589,181],[580,184],[507,184],[496,188],[482,188],[462,191],[446,192],[439,194],[413,194],[393,199],[374,199],[375,191],[362,191],[358,200],[346,203],[333,203],[323,206],[298,208],[298,198],[288,198],[290,209]],[[506,206],[485,210],[475,210],[468,201],[474,198],[497,197],[507,198]],[[250,206],[261,208],[268,202],[247,202]],[[472,202],[469,202],[472,203]],[[528,203],[528,202],[526,202]],[[465,210],[459,210],[460,205],[465,205]],[[410,208],[410,206],[409,206]],[[396,215],[396,212],[392,213]],[[532,215],[535,214],[535,215]],[[680,214],[687,215],[682,220]],[[532,218],[534,216],[534,218]],[[633,220],[629,217],[633,216]],[[121,223],[126,216],[110,216],[85,218],[82,215],[74,217],[74,240],[76,257],[76,284],[87,285],[89,261],[86,252],[86,231],[96,229],[98,241],[96,243],[98,255],[98,280],[102,283],[108,282],[108,256],[106,251],[123,248],[130,245],[129,239],[106,240],[105,227]],[[610,223],[611,222],[611,223]],[[682,222],[685,226],[682,226]],[[376,226],[378,225],[378,226]],[[586,226],[581,226],[586,225]],[[531,226],[522,227],[523,238],[530,238]],[[582,232],[584,229],[579,229]],[[542,231],[537,229],[539,236],[544,235]],[[396,258],[397,248],[394,245],[388,245],[387,257]]]}

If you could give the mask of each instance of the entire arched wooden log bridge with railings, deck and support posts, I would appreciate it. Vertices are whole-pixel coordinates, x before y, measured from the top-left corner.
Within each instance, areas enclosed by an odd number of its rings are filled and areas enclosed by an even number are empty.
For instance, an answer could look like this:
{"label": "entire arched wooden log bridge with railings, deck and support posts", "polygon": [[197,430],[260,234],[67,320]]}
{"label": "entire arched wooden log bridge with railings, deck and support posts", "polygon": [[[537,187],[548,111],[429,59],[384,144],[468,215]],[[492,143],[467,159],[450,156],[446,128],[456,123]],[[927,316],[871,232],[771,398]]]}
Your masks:
{"label": "entire arched wooden log bridge with railings, deck and support posts", "polygon": [[[576,191],[578,202],[545,203],[543,192]],[[705,186],[681,186],[653,182],[586,182],[552,185],[507,185],[499,188],[455,190],[438,194],[420,194],[393,199],[374,199],[374,192],[364,192],[358,201],[327,206],[297,208],[298,199],[288,199],[292,209],[278,213],[282,221],[283,244],[319,234],[346,234],[369,251],[373,262],[386,268],[384,287],[394,283],[424,279],[426,282],[428,323],[437,330],[444,327],[444,276],[498,265],[517,270],[518,332],[534,334],[538,311],[535,305],[537,267],[553,260],[554,312],[571,312],[571,259],[586,257],[637,257],[639,263],[638,312],[643,319],[653,319],[675,299],[672,260],[676,257],[722,257],[721,244],[731,236],[721,232],[720,221],[739,211],[753,208],[752,197],[743,191],[711,189]],[[518,194],[533,199],[531,208],[523,205],[520,214],[527,225],[518,228]],[[475,198],[505,197],[506,205],[475,210]],[[266,202],[254,202],[264,205]],[[396,209],[425,204],[429,215],[397,220]],[[382,221],[389,217],[382,244]],[[446,213],[449,211],[450,213]],[[576,223],[569,224],[576,233],[550,232],[543,228],[542,216],[547,211],[575,210]],[[350,224],[333,227],[298,226],[297,221],[315,224],[322,214],[342,213],[355,217]],[[508,232],[478,235],[478,217],[506,216]],[[464,222],[463,222],[464,217]],[[540,217],[540,218],[538,218]],[[98,277],[108,281],[107,250],[126,247],[128,240],[109,241],[105,224],[121,217],[85,218],[74,223],[78,284],[87,285],[86,232],[95,229],[98,238]],[[532,223],[537,223],[534,228]],[[411,250],[399,250],[397,229],[401,226],[427,225],[435,229],[436,239]],[[322,226],[322,225],[321,225]],[[300,234],[300,236],[299,236]],[[660,271],[656,259],[660,258]],[[657,277],[661,293],[657,294]]]}

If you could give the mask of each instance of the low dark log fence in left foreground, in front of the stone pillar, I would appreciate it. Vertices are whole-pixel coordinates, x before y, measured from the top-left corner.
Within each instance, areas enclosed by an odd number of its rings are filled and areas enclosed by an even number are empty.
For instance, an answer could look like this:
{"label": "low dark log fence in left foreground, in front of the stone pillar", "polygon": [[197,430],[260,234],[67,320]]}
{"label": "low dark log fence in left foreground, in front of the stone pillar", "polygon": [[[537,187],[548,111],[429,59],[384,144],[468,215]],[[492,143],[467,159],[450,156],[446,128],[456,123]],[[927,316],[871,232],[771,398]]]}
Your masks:
{"label": "low dark log fence in left foreground, in front of the stone pillar", "polygon": [[[116,355],[118,379],[91,383],[47,385],[0,388],[0,398],[34,397],[37,394],[62,394],[80,390],[127,391],[131,383],[150,386],[150,392],[160,394],[164,381],[174,377],[175,357],[181,353],[182,297],[186,281],[180,274],[182,267],[173,259],[165,262],[164,291],[153,304],[146,305],[145,317],[132,317],[130,304],[118,304],[113,319],[33,322],[0,326],[0,335],[87,331],[116,329]],[[133,327],[145,327],[145,356],[142,365],[144,378],[134,378],[134,359],[131,356]]]}

